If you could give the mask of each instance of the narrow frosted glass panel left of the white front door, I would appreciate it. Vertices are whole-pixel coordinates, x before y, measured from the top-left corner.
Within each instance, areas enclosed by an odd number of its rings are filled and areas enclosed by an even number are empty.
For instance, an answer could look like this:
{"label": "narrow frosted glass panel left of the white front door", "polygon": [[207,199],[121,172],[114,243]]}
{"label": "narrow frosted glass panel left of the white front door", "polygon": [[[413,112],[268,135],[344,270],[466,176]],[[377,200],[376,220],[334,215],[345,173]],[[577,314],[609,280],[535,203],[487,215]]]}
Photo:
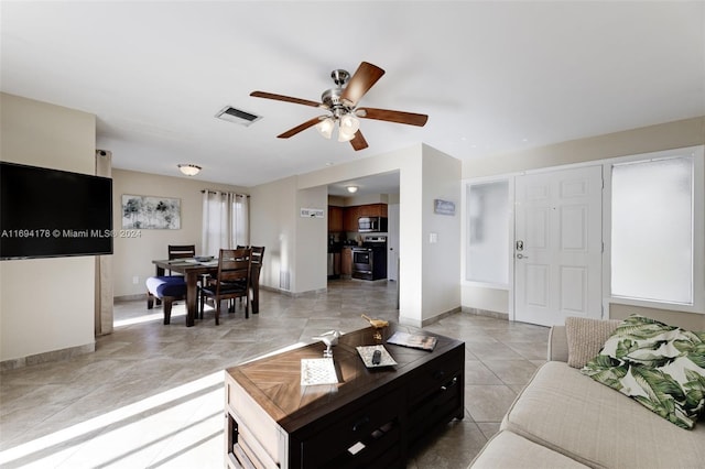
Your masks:
{"label": "narrow frosted glass panel left of the white front door", "polygon": [[466,280],[509,283],[509,183],[467,188],[468,246]]}

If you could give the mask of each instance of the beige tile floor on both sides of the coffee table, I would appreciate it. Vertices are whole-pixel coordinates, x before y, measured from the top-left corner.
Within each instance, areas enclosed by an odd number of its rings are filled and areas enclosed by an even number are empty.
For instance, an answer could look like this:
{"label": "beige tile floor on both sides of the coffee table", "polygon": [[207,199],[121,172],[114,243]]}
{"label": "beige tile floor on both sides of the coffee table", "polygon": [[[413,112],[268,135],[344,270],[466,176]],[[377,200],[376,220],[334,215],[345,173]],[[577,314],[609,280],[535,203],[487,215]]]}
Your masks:
{"label": "beige tile floor on both sides of the coffee table", "polygon": [[[115,332],[94,353],[0,374],[2,468],[221,468],[223,370],[310,342],[330,329],[365,327],[361,313],[397,320],[393,282],[330,282],[326,293],[262,292],[260,314],[213,314],[184,327],[145,302],[116,304]],[[426,329],[466,343],[466,417],[417,448],[410,469],[465,468],[545,359],[547,329],[455,314]]]}

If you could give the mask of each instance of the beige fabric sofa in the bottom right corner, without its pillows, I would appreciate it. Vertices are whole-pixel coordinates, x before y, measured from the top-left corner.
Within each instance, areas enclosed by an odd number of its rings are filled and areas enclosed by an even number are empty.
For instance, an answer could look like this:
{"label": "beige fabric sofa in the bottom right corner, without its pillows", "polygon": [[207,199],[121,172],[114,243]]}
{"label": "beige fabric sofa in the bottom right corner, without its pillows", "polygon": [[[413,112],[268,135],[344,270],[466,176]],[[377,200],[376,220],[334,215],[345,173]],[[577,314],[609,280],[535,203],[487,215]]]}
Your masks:
{"label": "beige fabric sofa in the bottom right corner, without its pillows", "polygon": [[705,468],[705,422],[686,430],[571,368],[565,326],[549,362],[470,468]]}

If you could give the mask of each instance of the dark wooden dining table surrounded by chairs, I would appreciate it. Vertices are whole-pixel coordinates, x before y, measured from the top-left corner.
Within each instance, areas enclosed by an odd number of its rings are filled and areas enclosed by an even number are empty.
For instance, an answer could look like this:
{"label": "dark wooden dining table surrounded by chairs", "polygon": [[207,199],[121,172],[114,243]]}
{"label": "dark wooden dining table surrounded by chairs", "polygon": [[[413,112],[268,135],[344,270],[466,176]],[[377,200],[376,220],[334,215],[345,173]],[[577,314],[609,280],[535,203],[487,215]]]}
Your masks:
{"label": "dark wooden dining table surrounded by chairs", "polygon": [[[218,260],[213,259],[202,261],[197,259],[172,259],[172,260],[153,260],[156,266],[156,276],[164,275],[164,271],[176,272],[184,275],[186,280],[186,327],[192,327],[196,323],[196,313],[198,312],[198,279],[204,275],[214,275],[218,273]],[[258,314],[260,298],[260,270],[261,264],[252,263],[250,266],[250,291],[252,314]]]}

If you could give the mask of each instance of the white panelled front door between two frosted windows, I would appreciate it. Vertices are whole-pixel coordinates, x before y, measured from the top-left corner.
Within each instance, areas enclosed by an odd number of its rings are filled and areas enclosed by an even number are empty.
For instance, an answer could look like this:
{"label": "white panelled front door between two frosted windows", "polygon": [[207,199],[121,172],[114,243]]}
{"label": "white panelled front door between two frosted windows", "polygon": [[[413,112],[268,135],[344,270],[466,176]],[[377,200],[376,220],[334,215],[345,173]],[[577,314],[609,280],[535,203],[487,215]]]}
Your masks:
{"label": "white panelled front door between two frosted windows", "polygon": [[601,317],[601,166],[517,177],[514,319]]}

